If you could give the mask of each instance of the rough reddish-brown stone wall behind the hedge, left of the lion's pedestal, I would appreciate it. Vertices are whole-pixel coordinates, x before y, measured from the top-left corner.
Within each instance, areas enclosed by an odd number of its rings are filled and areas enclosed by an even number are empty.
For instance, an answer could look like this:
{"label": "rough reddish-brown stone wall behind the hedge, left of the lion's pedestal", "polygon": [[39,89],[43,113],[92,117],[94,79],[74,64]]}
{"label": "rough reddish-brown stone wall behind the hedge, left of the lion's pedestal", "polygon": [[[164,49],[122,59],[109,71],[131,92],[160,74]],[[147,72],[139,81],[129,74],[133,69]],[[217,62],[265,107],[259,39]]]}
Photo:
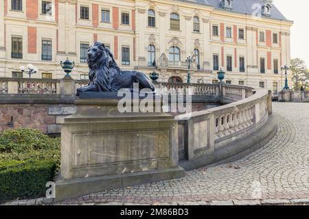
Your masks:
{"label": "rough reddish-brown stone wall behind the hedge, left of the lion's pedestal", "polygon": [[48,105],[0,105],[0,131],[30,128],[47,133],[48,126],[56,124],[56,116],[48,115],[48,107]]}

